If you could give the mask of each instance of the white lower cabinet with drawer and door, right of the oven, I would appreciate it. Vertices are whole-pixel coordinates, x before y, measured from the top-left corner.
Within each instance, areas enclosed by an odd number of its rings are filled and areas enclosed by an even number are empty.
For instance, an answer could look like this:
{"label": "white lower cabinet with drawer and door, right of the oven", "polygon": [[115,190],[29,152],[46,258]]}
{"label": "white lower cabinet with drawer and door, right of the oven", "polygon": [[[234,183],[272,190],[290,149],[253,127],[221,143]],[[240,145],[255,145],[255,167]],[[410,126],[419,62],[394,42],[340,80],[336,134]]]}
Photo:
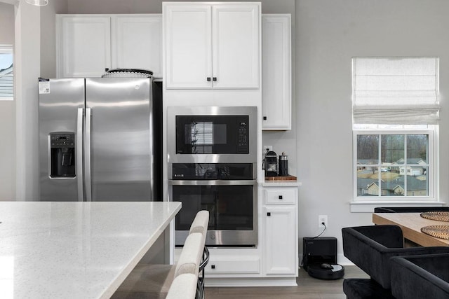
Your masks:
{"label": "white lower cabinet with drawer and door, right of the oven", "polygon": [[262,235],[262,273],[296,277],[297,186],[264,186]]}

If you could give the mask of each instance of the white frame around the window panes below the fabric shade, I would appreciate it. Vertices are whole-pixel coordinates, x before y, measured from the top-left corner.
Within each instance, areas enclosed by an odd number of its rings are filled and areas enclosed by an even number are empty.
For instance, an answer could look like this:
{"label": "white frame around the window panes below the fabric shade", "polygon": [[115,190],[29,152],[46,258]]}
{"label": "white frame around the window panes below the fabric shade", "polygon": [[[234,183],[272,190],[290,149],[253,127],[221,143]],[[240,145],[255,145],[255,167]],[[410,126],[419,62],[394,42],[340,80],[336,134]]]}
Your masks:
{"label": "white frame around the window panes below the fabric shade", "polygon": [[[429,148],[428,148],[428,161],[427,165],[427,179],[428,190],[427,196],[358,196],[357,195],[357,136],[361,134],[429,134]],[[438,202],[438,125],[428,125],[425,129],[374,129],[374,128],[353,128],[353,202],[354,203],[430,203]],[[406,148],[404,148],[406,151]],[[380,153],[379,153],[380,154]],[[377,166],[382,166],[382,161],[379,159]]]}

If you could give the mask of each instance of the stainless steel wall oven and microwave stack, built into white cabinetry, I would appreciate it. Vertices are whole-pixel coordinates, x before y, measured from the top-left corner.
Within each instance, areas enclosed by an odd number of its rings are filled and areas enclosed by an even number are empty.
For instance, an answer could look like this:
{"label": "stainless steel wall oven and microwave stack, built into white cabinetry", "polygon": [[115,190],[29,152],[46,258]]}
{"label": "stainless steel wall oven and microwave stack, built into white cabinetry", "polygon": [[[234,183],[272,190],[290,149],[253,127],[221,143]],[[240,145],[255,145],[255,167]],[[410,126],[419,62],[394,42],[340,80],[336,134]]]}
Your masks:
{"label": "stainless steel wall oven and microwave stack, built into white cabinetry", "polygon": [[209,211],[206,244],[257,245],[257,108],[168,107],[170,200],[182,202],[175,243]]}

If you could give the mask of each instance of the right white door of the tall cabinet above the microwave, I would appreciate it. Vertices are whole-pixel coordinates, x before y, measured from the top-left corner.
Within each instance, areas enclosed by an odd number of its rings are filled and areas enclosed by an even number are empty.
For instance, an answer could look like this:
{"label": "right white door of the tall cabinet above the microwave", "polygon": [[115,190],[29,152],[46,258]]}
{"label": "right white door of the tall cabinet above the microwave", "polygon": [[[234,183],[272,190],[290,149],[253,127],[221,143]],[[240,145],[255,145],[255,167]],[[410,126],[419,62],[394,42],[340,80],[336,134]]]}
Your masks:
{"label": "right white door of the tall cabinet above the microwave", "polygon": [[259,88],[259,6],[213,6],[213,88]]}

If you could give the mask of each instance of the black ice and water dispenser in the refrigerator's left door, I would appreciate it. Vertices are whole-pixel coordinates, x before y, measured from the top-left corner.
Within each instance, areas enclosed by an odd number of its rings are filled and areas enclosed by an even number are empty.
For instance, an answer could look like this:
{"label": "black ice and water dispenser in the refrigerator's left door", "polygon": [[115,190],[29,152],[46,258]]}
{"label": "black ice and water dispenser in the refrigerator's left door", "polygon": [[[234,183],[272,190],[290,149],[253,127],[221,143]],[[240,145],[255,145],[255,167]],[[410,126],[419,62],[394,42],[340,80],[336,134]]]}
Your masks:
{"label": "black ice and water dispenser in the refrigerator's left door", "polygon": [[75,176],[75,133],[50,133],[50,177]]}

